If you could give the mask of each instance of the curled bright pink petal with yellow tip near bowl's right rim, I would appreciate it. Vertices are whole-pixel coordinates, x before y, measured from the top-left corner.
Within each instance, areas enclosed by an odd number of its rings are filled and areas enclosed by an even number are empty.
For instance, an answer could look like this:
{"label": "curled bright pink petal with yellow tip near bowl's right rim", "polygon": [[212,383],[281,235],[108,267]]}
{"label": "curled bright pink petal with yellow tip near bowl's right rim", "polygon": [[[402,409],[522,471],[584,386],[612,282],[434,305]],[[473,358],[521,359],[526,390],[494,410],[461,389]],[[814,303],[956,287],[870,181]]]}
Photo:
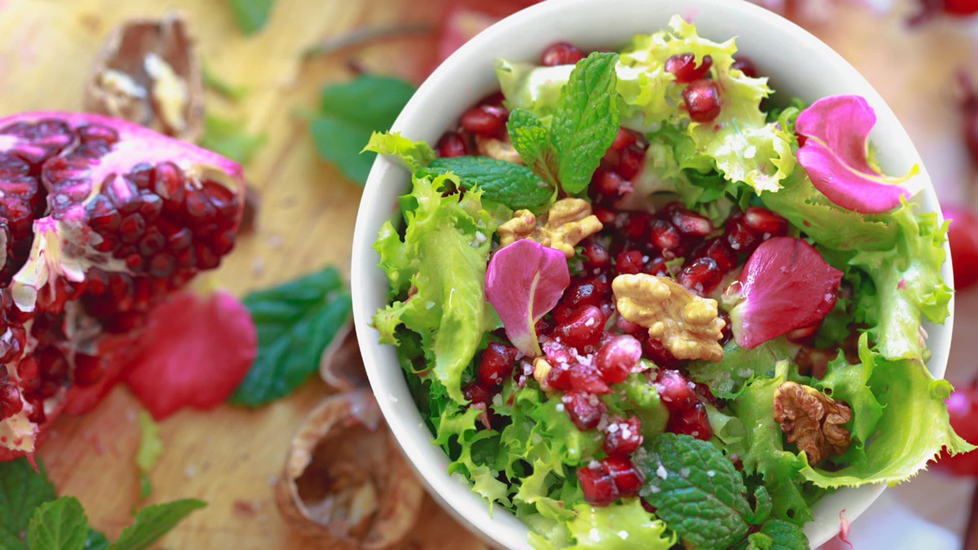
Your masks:
{"label": "curled bright pink petal with yellow tip near bowl's right rim", "polygon": [[876,115],[860,96],[830,96],[798,115],[795,131],[805,136],[798,163],[815,188],[838,206],[863,213],[900,206],[907,190],[875,170],[867,159],[869,131]]}

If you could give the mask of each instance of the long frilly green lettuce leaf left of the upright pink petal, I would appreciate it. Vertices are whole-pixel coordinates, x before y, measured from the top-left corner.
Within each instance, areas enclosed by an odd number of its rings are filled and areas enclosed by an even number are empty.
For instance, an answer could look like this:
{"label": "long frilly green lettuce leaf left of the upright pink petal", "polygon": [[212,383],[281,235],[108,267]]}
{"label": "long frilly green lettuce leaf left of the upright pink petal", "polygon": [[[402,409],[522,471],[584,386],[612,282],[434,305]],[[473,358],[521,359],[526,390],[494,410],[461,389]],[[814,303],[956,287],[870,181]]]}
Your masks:
{"label": "long frilly green lettuce leaf left of the upright pink petal", "polygon": [[[420,334],[422,348],[433,354],[434,377],[461,403],[463,372],[492,319],[483,282],[496,225],[478,189],[462,199],[443,196],[449,182],[459,185],[451,175],[415,177],[402,198],[403,239],[389,221],[380,228],[374,249],[400,299],[377,312],[374,326],[381,344],[397,344],[400,325]],[[401,296],[408,287],[412,292]]]}

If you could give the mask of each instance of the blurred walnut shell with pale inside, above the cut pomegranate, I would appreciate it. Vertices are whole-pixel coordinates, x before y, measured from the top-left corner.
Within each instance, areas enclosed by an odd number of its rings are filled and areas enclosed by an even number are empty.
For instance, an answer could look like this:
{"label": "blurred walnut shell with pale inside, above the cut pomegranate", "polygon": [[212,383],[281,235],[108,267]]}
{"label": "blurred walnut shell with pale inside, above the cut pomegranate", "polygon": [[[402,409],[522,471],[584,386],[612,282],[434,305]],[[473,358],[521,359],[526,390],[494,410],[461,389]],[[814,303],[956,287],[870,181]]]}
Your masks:
{"label": "blurred walnut shell with pale inside, above the cut pomegranate", "polygon": [[112,30],[85,83],[85,109],[197,141],[203,83],[183,17],[131,20]]}

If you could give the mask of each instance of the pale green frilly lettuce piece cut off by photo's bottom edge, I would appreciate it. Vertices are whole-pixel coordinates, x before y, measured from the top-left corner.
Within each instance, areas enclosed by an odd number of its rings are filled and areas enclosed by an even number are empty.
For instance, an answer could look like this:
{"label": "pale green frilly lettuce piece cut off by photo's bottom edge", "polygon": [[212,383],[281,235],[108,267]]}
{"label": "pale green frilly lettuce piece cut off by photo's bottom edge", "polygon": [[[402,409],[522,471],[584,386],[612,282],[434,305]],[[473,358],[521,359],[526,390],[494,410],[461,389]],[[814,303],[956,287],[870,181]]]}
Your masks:
{"label": "pale green frilly lettuce piece cut off by photo's bottom edge", "polygon": [[576,517],[567,524],[576,544],[572,550],[666,550],[675,536],[666,535],[666,525],[645,511],[638,498],[625,499],[603,508],[589,504],[574,506]]}

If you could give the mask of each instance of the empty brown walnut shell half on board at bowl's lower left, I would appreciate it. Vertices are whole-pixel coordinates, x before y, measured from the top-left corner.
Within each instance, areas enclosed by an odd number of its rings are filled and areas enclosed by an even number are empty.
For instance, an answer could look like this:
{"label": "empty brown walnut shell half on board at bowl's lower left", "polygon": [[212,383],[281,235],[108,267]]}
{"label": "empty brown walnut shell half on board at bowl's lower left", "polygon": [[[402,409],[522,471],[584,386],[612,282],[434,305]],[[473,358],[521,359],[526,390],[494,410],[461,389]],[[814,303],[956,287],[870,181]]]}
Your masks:
{"label": "empty brown walnut shell half on board at bowl's lower left", "polygon": [[331,549],[395,545],[415,525],[423,496],[363,390],[334,394],[306,417],[276,487],[289,525]]}

